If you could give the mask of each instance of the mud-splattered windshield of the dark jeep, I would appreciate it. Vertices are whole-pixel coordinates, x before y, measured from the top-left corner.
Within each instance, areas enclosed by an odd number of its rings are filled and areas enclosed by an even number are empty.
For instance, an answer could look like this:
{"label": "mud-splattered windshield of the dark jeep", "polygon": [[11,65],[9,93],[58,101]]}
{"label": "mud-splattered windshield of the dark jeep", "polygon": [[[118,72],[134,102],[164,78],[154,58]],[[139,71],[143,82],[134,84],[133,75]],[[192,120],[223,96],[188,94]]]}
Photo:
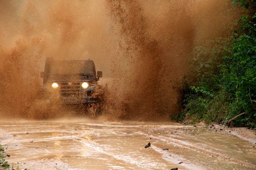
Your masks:
{"label": "mud-splattered windshield of the dark jeep", "polygon": [[95,67],[92,60],[55,60],[50,66],[50,74],[95,76]]}

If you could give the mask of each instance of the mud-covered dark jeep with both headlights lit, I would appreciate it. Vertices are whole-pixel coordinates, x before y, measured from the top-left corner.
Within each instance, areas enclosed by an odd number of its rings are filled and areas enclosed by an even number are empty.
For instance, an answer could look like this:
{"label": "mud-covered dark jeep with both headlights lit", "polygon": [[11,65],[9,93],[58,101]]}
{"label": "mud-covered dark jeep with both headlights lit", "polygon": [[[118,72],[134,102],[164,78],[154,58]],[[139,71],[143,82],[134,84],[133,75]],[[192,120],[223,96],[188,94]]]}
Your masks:
{"label": "mud-covered dark jeep with both headlights lit", "polygon": [[92,60],[56,60],[46,58],[42,94],[50,103],[83,106],[87,111],[99,114],[103,89],[97,82],[102,72]]}

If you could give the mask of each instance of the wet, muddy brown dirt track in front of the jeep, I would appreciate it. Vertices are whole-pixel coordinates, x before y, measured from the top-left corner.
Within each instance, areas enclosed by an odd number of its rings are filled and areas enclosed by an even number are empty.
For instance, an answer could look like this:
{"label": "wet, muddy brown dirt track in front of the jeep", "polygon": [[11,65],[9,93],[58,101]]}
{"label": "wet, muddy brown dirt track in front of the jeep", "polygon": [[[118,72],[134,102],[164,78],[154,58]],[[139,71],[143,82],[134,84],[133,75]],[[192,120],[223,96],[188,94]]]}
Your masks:
{"label": "wet, muddy brown dirt track in front of the jeep", "polygon": [[31,170],[255,170],[255,142],[229,130],[85,119],[1,121],[0,144],[10,164],[26,162],[21,167]]}

